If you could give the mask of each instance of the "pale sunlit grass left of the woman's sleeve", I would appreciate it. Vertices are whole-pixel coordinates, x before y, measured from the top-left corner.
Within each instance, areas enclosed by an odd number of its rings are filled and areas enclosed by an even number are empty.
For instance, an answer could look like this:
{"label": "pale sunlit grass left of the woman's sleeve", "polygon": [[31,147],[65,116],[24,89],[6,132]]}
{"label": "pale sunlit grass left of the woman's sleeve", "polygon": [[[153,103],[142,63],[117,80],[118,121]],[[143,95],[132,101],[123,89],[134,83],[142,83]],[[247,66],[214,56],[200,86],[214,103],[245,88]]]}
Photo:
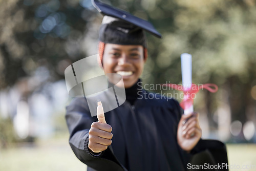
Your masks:
{"label": "pale sunlit grass left of the woman's sleeve", "polygon": [[86,168],[70,148],[68,136],[42,140],[35,145],[19,144],[19,147],[0,151],[1,171],[84,171],[87,170]]}

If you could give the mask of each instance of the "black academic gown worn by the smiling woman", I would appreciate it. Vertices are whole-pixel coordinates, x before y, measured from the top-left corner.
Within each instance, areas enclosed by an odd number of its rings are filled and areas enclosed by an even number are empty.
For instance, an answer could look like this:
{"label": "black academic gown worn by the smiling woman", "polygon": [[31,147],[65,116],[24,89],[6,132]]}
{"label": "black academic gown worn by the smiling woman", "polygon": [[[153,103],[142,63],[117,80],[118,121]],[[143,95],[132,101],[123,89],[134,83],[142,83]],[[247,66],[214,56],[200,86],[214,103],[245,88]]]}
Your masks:
{"label": "black academic gown worn by the smiling woman", "polygon": [[91,117],[85,98],[75,98],[67,106],[69,142],[88,170],[186,170],[192,154],[183,151],[177,143],[177,126],[183,113],[178,101],[144,90],[142,94],[133,105],[125,101],[105,113],[106,123],[113,128],[113,138],[112,144],[98,157],[88,150],[88,132],[92,122],[98,121],[97,117]]}

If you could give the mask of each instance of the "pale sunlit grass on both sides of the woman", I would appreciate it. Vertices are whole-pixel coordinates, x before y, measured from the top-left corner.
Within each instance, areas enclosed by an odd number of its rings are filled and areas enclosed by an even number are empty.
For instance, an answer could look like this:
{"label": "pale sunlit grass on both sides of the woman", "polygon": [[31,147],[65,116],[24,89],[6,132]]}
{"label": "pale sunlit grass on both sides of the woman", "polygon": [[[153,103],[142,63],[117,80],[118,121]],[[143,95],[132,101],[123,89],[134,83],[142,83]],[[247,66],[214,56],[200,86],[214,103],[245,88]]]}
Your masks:
{"label": "pale sunlit grass on both sides of the woman", "polygon": [[[72,152],[68,144],[68,136],[40,140],[35,145],[19,144],[18,146],[0,150],[0,170],[86,170],[86,165]],[[230,171],[256,171],[255,144],[227,144],[227,152],[230,167],[235,165],[240,167]],[[243,165],[247,166],[247,169],[243,169]]]}

